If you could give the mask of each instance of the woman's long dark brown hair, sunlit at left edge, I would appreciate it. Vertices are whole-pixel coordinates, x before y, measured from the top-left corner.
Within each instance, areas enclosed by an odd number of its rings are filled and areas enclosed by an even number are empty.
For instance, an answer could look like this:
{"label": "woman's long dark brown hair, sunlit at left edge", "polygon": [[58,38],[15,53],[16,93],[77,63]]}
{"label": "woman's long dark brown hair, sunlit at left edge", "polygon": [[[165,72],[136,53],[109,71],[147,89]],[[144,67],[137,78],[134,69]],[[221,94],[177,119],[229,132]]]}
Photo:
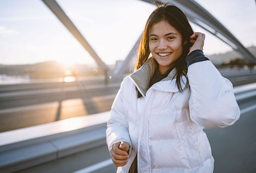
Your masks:
{"label": "woman's long dark brown hair, sunlit at left edge", "polygon": [[[186,44],[183,45],[183,52],[181,56],[175,62],[176,74],[174,78],[176,77],[177,87],[179,91],[182,92],[183,90],[181,87],[181,77],[182,75],[184,75],[187,78],[187,63],[185,61],[185,58],[189,52],[189,47],[191,46],[189,36],[192,35],[194,32],[190,24],[188,23],[186,15],[174,5],[158,5],[158,8],[151,13],[150,17],[148,17],[140,41],[138,58],[135,64],[134,71],[138,70],[149,58],[150,46],[148,33],[154,24],[157,24],[162,20],[167,21],[169,25],[172,25],[174,28],[176,28],[181,33],[182,42],[186,42]],[[141,97],[141,94],[139,92],[138,97]]]}

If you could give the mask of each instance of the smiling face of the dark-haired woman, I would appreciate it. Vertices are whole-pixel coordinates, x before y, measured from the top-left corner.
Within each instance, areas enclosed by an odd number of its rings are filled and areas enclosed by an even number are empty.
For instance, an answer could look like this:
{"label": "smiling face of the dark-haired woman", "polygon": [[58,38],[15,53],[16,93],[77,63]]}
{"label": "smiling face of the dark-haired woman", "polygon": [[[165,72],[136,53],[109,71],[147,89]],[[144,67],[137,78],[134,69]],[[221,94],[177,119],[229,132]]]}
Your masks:
{"label": "smiling face of the dark-haired woman", "polygon": [[181,33],[162,20],[150,28],[148,35],[150,51],[159,63],[160,73],[164,74],[182,54]]}

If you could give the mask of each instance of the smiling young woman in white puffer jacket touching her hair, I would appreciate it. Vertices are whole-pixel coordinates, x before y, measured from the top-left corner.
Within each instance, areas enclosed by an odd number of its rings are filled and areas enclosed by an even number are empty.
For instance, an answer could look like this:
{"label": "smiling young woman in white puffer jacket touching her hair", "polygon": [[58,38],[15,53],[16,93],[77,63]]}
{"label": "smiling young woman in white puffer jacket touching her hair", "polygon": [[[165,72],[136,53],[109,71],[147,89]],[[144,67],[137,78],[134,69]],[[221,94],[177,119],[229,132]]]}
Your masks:
{"label": "smiling young woman in white puffer jacket touching her hair", "polygon": [[203,128],[232,125],[240,111],[231,82],[203,54],[204,38],[176,6],[148,18],[106,129],[117,172],[213,172]]}

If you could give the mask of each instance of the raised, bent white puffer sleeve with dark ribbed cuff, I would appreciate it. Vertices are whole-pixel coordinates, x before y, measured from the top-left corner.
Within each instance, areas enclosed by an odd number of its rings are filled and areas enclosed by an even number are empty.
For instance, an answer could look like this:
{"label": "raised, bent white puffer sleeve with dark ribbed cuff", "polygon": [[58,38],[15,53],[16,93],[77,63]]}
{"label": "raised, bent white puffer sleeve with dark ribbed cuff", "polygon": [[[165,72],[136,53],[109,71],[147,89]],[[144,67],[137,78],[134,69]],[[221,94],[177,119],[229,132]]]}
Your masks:
{"label": "raised, bent white puffer sleeve with dark ribbed cuff", "polygon": [[186,57],[190,119],[204,128],[226,127],[240,117],[232,83],[221,76],[201,50]]}

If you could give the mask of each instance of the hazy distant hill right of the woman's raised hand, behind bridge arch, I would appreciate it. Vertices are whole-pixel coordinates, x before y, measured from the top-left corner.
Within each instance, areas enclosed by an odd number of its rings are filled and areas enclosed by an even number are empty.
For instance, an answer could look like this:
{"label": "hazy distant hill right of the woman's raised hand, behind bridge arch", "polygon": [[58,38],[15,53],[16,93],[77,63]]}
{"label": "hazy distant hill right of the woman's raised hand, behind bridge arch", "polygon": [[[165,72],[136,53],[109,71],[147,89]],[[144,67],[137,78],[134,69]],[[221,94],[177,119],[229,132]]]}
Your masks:
{"label": "hazy distant hill right of the woman's raised hand, behind bridge arch", "polygon": [[[252,55],[254,55],[256,57],[256,47],[255,46],[248,47],[247,49],[252,53]],[[220,65],[223,62],[228,62],[230,60],[234,60],[237,58],[244,58],[237,51],[228,51],[228,52],[220,53],[220,54],[206,55],[206,57],[208,57],[211,60],[211,62],[216,65]]]}

